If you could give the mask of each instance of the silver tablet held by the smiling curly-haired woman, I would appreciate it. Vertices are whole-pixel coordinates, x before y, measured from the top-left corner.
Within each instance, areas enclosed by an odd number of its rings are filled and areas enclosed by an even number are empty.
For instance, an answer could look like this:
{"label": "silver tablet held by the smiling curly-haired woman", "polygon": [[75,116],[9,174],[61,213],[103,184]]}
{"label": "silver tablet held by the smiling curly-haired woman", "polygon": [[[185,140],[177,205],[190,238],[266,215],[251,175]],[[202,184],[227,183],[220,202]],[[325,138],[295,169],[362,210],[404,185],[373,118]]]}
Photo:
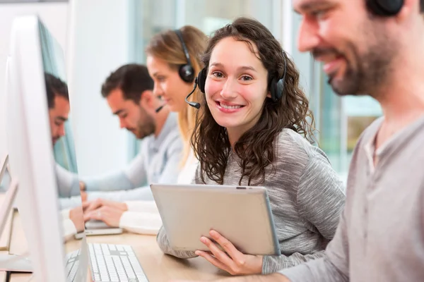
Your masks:
{"label": "silver tablet held by the smiling curly-haired woman", "polygon": [[249,255],[281,255],[263,187],[151,184],[174,250],[205,250],[201,236],[218,231]]}

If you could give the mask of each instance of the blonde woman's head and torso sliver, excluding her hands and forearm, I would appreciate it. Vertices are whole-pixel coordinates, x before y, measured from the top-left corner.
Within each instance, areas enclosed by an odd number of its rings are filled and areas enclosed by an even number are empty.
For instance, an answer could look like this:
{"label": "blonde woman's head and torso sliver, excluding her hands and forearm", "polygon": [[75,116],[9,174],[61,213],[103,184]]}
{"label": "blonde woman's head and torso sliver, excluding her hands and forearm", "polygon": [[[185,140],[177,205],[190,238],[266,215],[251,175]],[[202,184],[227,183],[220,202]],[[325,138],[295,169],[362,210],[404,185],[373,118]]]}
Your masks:
{"label": "blonde woman's head and torso sliver, excluding her hands and forearm", "polygon": [[[147,68],[155,82],[153,93],[161,97],[170,111],[178,113],[178,125],[184,143],[182,170],[178,183],[191,183],[198,161],[190,146],[196,109],[185,102],[192,92],[194,78],[203,68],[199,55],[206,49],[207,37],[191,25],[155,35],[146,48]],[[201,92],[194,90],[190,102],[199,101]]]}

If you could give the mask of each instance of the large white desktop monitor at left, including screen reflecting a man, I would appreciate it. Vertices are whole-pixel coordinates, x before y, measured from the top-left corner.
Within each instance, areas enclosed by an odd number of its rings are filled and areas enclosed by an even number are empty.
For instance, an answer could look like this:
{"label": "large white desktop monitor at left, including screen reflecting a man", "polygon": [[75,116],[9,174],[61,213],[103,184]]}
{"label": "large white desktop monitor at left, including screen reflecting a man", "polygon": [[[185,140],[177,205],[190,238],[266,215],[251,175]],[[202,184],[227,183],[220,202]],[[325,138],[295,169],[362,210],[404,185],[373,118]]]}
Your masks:
{"label": "large white desktop monitor at left, including screen reflecting a man", "polygon": [[34,276],[85,281],[88,254],[64,52],[37,16],[13,21],[10,50],[8,157]]}

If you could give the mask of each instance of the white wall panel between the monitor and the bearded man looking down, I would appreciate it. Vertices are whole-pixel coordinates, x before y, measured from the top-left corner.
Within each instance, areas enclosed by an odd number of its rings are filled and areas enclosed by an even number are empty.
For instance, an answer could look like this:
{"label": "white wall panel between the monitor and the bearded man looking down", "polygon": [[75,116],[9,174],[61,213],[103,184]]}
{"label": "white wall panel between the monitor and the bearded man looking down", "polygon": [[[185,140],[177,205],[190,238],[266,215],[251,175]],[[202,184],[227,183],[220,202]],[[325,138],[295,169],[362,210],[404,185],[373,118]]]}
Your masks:
{"label": "white wall panel between the monitor and the bearded man looking down", "polygon": [[129,133],[119,129],[100,87],[130,61],[129,0],[73,2],[68,81],[78,173],[88,176],[122,168],[129,159]]}

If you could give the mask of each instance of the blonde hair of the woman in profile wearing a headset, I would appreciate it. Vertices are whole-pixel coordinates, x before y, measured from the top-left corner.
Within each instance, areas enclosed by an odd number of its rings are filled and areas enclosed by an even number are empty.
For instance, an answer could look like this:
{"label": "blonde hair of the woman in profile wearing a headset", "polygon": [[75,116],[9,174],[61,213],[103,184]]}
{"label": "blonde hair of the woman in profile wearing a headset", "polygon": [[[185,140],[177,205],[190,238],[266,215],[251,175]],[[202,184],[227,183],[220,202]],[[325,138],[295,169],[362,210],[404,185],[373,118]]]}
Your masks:
{"label": "blonde hair of the woman in profile wearing a headset", "polygon": [[[184,27],[181,27],[179,30],[182,33],[184,44],[189,51],[190,63],[192,63],[192,67],[194,68],[194,74],[197,76],[201,69],[204,68],[204,64],[201,62],[201,56],[206,50],[208,37],[204,32],[201,32],[201,30],[192,25],[184,25]],[[146,47],[146,54],[162,59],[169,64],[170,68],[175,69],[175,71],[178,71],[179,66],[187,63],[182,43],[174,30],[166,30],[154,35]],[[203,95],[203,93],[197,88],[192,96],[189,97],[189,101],[199,101],[200,95]],[[190,154],[190,140],[196,122],[196,112],[199,110],[187,104],[187,106],[178,113],[179,132],[184,142],[184,151],[181,161],[182,166],[185,164]]]}

